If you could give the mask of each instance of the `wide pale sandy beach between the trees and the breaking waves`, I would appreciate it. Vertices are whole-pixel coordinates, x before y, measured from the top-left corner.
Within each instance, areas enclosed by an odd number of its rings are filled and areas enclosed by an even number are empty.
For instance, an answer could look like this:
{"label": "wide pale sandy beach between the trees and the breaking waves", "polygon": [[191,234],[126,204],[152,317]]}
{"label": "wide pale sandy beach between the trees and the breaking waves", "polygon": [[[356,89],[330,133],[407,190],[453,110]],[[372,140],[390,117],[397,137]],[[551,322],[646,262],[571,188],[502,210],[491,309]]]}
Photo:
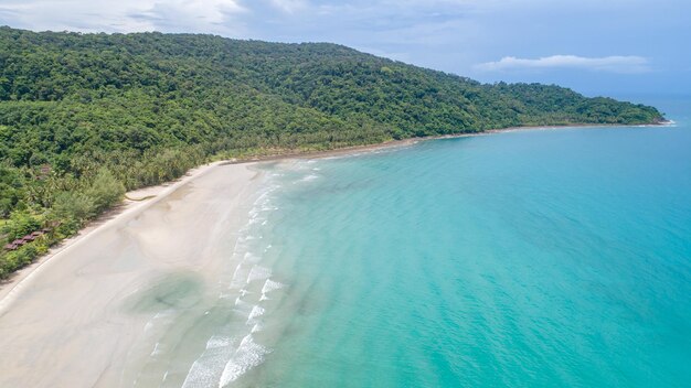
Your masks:
{"label": "wide pale sandy beach between the trees and the breaking waves", "polygon": [[[193,343],[190,346],[209,342],[206,347],[213,348],[217,333],[204,332],[200,316],[232,321],[237,316],[228,314],[240,312],[249,319],[241,319],[231,332],[242,334],[244,321],[249,324],[261,311],[262,300],[251,297],[242,302],[248,311],[237,305],[247,290],[253,290],[249,283],[258,281],[253,291],[264,300],[267,287],[280,287],[264,279],[259,273],[264,268],[236,249],[246,237],[243,233],[252,224],[251,215],[256,218],[266,207],[266,201],[258,200],[267,192],[268,177],[257,163],[357,155],[418,140],[219,161],[193,169],[177,181],[126,193],[121,205],[0,284],[0,332],[10,334],[0,336],[0,386],[147,387],[168,382],[200,387],[236,379],[256,366],[257,352],[265,352],[247,348],[249,334],[257,327],[247,327],[247,336],[240,337],[244,342],[226,344],[234,351],[221,357],[223,363],[214,362],[221,364],[213,374],[199,363],[208,358],[203,347],[187,349],[188,345],[180,344],[199,326],[199,337],[189,341]],[[234,303],[219,309],[228,294]],[[209,316],[217,310],[222,317]],[[153,333],[156,330],[159,333]],[[171,346],[183,349],[167,352],[170,359],[156,359],[162,353],[162,337],[178,337]],[[190,357],[184,359],[188,353]],[[152,363],[166,366],[147,370]]]}

